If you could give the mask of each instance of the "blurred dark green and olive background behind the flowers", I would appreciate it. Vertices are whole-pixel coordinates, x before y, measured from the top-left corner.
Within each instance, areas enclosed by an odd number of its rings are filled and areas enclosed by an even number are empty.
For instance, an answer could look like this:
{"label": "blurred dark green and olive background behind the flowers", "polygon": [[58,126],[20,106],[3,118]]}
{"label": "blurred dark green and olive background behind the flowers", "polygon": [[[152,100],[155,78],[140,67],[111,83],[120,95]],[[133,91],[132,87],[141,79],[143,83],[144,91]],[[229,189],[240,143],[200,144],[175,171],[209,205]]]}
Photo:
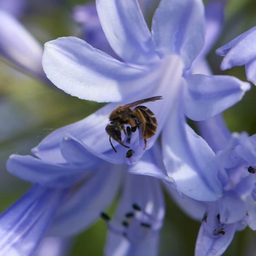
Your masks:
{"label": "blurred dark green and olive background behind the flowers", "polygon": [[[59,1],[60,2],[60,1]],[[59,36],[78,36],[79,25],[72,20],[72,8],[83,0],[32,1],[21,22],[38,41],[44,44]],[[219,69],[221,57],[215,49],[256,25],[255,0],[230,0],[226,9],[225,27],[220,40],[209,55],[215,74],[234,75],[246,80],[244,67],[227,72]],[[231,131],[256,133],[256,88],[252,86],[241,102],[225,111]],[[0,61],[0,208],[5,210],[30,184],[16,179],[5,169],[10,154],[30,154],[48,133],[65,124],[78,121],[103,106],[80,100],[51,89]],[[162,231],[160,256],[193,255],[200,223],[195,222],[166,197],[166,217]],[[114,205],[108,212],[113,213]],[[107,228],[98,220],[91,228],[73,238],[71,256],[101,256]],[[237,232],[224,256],[255,256],[256,234],[246,228]]]}

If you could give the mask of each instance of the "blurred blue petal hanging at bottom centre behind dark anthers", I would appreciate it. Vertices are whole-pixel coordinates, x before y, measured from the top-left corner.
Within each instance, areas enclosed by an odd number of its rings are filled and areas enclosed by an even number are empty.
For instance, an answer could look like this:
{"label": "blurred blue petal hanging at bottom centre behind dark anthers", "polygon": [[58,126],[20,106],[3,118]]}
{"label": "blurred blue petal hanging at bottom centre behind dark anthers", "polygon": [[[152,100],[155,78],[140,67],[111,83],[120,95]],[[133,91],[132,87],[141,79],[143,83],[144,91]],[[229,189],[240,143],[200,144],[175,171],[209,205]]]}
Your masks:
{"label": "blurred blue petal hanging at bottom centre behind dark anthers", "polygon": [[[133,210],[134,203],[139,205],[141,210],[135,212],[129,226],[124,227],[120,220],[125,219],[125,214]],[[108,225],[110,232],[105,255],[157,256],[159,229],[163,219],[164,200],[159,181],[152,177],[128,174],[116,216]],[[149,223],[150,227],[141,226],[141,222]]]}

